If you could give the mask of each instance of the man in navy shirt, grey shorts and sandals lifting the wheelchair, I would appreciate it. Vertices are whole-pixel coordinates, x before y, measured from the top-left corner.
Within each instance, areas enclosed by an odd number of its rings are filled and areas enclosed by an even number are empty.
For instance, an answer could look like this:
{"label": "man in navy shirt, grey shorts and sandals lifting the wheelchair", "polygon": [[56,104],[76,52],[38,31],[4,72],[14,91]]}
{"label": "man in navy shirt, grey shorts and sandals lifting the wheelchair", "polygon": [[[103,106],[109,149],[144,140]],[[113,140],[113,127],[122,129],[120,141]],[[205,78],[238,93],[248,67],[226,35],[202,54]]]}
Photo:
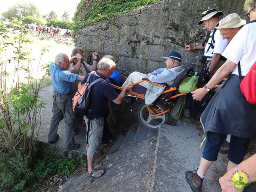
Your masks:
{"label": "man in navy shirt, grey shorts and sandals lifting the wheelchair", "polygon": [[[102,58],[98,63],[98,71],[90,76],[89,83],[97,80],[98,78],[109,78],[115,69],[115,62],[109,58]],[[78,84],[78,88],[81,84],[88,82],[88,75]],[[104,126],[104,113],[108,108],[108,101],[113,101],[116,104],[121,104],[124,100],[126,92],[130,90],[132,86],[127,85],[122,92],[118,95],[114,88],[106,81],[102,80],[91,87],[89,106],[91,111],[90,115],[85,116],[85,122],[87,126],[87,160],[88,160],[88,174],[92,178],[99,178],[104,174],[104,170],[94,169],[94,158],[100,148],[100,144],[103,136]],[[88,129],[90,127],[90,129]]]}

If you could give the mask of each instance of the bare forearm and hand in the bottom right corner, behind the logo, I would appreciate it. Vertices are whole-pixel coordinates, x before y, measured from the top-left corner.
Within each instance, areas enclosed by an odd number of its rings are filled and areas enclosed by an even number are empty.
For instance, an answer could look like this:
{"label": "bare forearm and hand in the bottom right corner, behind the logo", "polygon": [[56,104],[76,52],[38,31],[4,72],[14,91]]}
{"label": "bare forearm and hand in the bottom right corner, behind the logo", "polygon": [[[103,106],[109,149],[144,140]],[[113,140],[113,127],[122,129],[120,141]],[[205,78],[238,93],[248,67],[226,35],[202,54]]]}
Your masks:
{"label": "bare forearm and hand in the bottom right corner, behind the logo", "polygon": [[[256,181],[255,162],[256,162],[256,154],[254,154],[250,158],[241,162],[237,167],[238,172],[244,172],[244,173],[246,172],[248,176],[250,176],[247,182],[248,184],[251,181]],[[231,169],[219,179],[222,192],[237,192],[237,190],[234,188],[234,183],[228,181],[228,180],[231,180],[230,177],[232,176],[233,173],[234,173],[234,169]]]}

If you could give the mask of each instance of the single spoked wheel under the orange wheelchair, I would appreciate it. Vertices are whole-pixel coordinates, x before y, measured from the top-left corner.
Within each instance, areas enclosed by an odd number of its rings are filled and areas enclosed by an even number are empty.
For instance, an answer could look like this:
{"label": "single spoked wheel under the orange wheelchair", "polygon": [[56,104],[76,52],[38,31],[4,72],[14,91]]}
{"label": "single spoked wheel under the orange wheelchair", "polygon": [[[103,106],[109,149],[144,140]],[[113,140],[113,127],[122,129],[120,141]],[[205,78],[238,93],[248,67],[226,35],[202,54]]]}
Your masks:
{"label": "single spoked wheel under the orange wheelchair", "polygon": [[[157,103],[156,107],[150,106],[151,113],[157,114],[166,110],[166,107]],[[144,102],[142,102],[138,108],[138,118],[140,122],[150,130],[158,130],[160,124],[166,124],[168,122],[168,113],[156,117],[150,117],[148,108]]]}

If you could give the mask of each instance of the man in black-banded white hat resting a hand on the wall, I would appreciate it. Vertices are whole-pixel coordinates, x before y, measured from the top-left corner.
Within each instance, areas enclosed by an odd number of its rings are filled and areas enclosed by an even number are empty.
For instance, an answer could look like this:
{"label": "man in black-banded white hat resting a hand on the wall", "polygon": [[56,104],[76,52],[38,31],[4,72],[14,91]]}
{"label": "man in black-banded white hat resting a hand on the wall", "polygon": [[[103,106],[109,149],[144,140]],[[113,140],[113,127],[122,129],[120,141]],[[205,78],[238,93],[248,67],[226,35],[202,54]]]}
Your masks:
{"label": "man in black-banded white hat resting a hand on the wall", "polygon": [[226,60],[221,54],[228,45],[228,41],[222,39],[220,32],[215,29],[215,27],[218,26],[219,16],[221,15],[223,15],[223,12],[217,11],[216,9],[203,12],[202,19],[198,22],[198,25],[204,24],[204,28],[211,31],[209,38],[202,44],[185,46],[185,50],[188,51],[204,49],[204,55],[207,56],[208,60],[208,71],[212,74],[214,74]]}

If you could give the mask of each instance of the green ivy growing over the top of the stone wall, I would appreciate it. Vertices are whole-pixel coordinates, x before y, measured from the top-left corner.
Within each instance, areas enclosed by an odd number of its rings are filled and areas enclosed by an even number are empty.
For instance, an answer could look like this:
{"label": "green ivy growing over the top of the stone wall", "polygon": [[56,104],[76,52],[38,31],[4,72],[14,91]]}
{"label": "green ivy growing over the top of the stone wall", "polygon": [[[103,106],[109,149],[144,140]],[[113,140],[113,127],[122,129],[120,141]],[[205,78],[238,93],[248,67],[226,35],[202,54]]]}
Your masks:
{"label": "green ivy growing over the top of the stone wall", "polygon": [[81,0],[76,8],[73,22],[75,34],[86,26],[117,18],[124,13],[140,7],[159,2],[160,0]]}

